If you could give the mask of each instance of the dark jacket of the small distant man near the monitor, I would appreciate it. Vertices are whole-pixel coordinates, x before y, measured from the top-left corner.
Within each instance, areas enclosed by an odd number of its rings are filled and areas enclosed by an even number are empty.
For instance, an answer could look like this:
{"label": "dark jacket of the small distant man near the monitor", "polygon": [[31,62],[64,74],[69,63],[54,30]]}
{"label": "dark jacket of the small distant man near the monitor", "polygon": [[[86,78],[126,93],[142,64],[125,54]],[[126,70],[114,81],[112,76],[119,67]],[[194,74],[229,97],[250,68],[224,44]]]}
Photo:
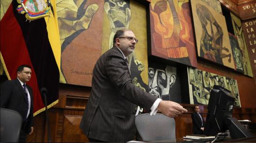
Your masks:
{"label": "dark jacket of the small distant man near the monitor", "polygon": [[[200,116],[202,117],[202,114],[200,114]],[[194,111],[192,113],[192,121],[193,121],[193,132],[194,132],[194,134],[202,134],[203,132],[202,132],[201,128],[204,126],[203,117],[202,117],[202,120],[201,120],[199,115]]]}

